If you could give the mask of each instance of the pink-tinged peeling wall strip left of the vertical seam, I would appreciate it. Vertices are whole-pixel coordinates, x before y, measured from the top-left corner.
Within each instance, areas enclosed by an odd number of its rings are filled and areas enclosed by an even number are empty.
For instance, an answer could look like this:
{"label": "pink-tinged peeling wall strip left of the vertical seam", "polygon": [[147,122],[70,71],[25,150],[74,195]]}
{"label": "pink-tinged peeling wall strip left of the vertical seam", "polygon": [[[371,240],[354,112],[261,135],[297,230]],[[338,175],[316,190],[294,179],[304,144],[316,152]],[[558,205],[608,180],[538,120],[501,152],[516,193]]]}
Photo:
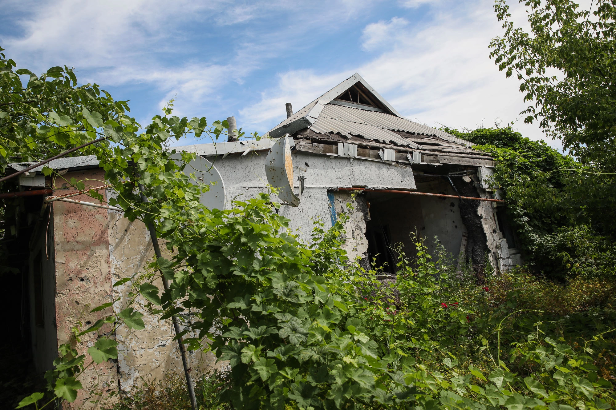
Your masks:
{"label": "pink-tinged peeling wall strip left of the vertical seam", "polygon": [[[75,191],[67,183],[71,178],[84,180],[86,188],[101,185],[103,171],[69,172],[51,182],[54,195]],[[97,181],[98,180],[98,181]],[[86,195],[75,196],[77,201],[92,201]],[[70,342],[79,354],[86,355],[87,348],[94,345],[99,334],[111,330],[110,326],[80,337],[77,342],[71,329],[90,326],[108,315],[108,312],[90,313],[92,308],[111,301],[111,271],[109,266],[109,226],[107,210],[70,204],[60,201],[54,207],[55,238],[55,309],[58,345]],[[113,336],[113,335],[108,335]],[[89,401],[91,390],[115,390],[118,383],[116,364],[105,362],[95,364],[81,374],[79,380],[83,389],[77,400],[68,408],[78,409]]]}

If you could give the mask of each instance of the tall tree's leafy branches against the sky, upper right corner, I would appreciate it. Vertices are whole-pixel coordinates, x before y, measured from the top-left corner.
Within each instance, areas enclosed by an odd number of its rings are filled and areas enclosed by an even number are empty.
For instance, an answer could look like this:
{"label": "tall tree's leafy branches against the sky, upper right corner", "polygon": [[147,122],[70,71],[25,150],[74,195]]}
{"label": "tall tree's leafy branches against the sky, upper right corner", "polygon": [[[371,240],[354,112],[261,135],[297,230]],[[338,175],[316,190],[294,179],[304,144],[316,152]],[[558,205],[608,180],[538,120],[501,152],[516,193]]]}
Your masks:
{"label": "tall tree's leafy branches against the sky, upper right corner", "polygon": [[[522,2],[522,1],[520,1]],[[505,0],[495,2],[503,37],[492,39],[490,57],[506,76],[521,81],[525,122],[540,120],[583,163],[616,171],[616,3],[596,0],[525,0],[530,32],[516,27]]]}

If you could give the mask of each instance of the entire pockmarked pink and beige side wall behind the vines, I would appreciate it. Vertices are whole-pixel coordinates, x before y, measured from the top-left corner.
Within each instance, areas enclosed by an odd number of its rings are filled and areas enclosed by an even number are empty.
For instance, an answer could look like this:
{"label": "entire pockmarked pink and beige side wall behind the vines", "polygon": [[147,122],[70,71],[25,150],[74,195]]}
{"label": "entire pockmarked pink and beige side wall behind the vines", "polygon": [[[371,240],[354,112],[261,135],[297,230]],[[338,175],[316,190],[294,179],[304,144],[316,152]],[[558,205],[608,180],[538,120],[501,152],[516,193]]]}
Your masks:
{"label": "entire pockmarked pink and beige side wall behind the vines", "polygon": [[[102,170],[70,172],[52,183],[54,195],[75,191],[67,183],[71,178],[83,180],[86,188],[103,184]],[[89,180],[85,180],[85,179]],[[105,200],[110,191],[102,191]],[[78,201],[97,201],[86,195],[75,196]],[[83,389],[78,398],[69,404],[70,409],[98,408],[91,403],[90,392],[109,393],[121,388],[128,392],[142,381],[161,380],[168,370],[182,372],[177,341],[172,340],[174,329],[171,320],[159,320],[145,310],[145,300],[137,300],[134,308],[144,316],[145,329],[136,331],[123,325],[111,333],[105,325],[99,332],[82,336],[77,342],[71,329],[87,328],[95,321],[110,315],[111,308],[90,313],[92,308],[120,298],[113,305],[115,313],[126,308],[131,283],[112,287],[119,279],[143,272],[153,257],[150,235],[140,221],[130,222],[120,213],[79,204],[55,201],[55,315],[57,344],[71,342],[79,354],[91,361],[87,348],[98,337],[107,336],[118,341],[118,360],[108,361],[88,368],[79,380]],[[164,246],[161,246],[164,249]],[[155,283],[160,289],[160,280]],[[81,324],[80,324],[81,323]],[[198,371],[210,371],[222,364],[215,364],[212,353],[189,352],[190,364]]]}

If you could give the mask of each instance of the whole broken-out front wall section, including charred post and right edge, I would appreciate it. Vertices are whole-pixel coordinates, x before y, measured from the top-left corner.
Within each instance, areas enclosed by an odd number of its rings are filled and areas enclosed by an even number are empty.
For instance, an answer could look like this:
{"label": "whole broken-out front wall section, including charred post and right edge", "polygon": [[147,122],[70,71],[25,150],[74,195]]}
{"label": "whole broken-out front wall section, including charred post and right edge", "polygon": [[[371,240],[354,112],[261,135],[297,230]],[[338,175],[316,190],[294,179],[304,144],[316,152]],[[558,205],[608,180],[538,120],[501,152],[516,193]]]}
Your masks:
{"label": "whole broken-out front wall section, including charred post and right edge", "polygon": [[[476,175],[416,177],[420,192],[492,198],[480,187]],[[333,215],[345,212],[349,218],[344,246],[349,257],[359,258],[363,267],[376,263],[386,273],[394,273],[400,251],[407,258],[415,257],[416,239],[423,240],[433,257],[442,257],[444,250],[445,257],[457,262],[459,268],[469,263],[479,278],[485,275],[488,263],[493,273],[514,265],[496,222],[493,202],[392,194],[387,190],[365,191],[355,196],[330,190],[328,195]]]}

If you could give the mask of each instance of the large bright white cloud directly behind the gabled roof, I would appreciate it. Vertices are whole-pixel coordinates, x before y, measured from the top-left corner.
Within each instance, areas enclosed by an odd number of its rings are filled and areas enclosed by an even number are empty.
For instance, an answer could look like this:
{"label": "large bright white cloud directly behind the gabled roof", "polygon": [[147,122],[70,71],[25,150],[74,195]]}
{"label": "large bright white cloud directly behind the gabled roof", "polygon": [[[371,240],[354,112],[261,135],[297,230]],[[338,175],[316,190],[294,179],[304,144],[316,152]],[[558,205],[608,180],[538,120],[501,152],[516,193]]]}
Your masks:
{"label": "large bright white cloud directly behind the gabled roof", "polygon": [[[403,25],[402,18],[368,25],[365,33],[370,35],[363,41],[380,44],[382,39],[389,39],[390,49],[351,70],[281,73],[278,85],[266,90],[260,103],[242,113],[254,124],[258,119],[282,121],[285,100],[292,101],[297,111],[357,71],[413,121],[458,129],[489,127],[495,121],[505,126],[517,121],[514,128],[526,137],[545,139],[537,125],[523,124],[519,118],[525,105],[517,79],[506,79],[488,58],[488,43],[500,34],[500,23],[489,0],[473,7],[452,5],[443,3],[433,9],[434,20],[424,23],[421,30]],[[395,30],[390,30],[393,26]],[[546,142],[562,148],[559,141]]]}

